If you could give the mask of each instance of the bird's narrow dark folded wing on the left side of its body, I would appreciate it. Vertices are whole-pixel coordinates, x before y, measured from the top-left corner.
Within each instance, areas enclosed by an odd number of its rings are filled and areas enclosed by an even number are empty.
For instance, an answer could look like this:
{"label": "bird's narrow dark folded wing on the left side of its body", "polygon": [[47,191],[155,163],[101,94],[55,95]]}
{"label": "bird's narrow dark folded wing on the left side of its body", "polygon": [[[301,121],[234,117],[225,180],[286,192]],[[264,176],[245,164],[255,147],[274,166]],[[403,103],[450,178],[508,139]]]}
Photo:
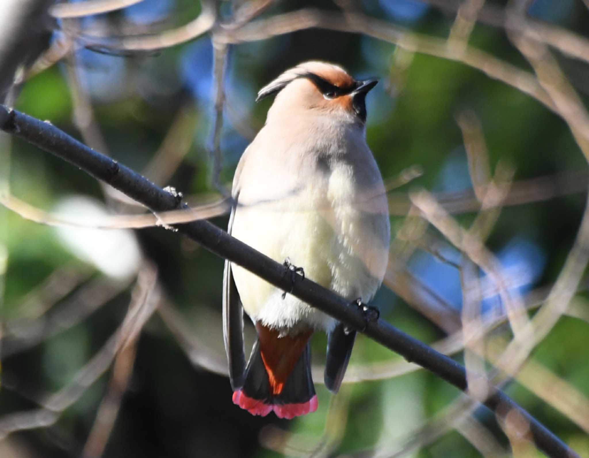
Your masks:
{"label": "bird's narrow dark folded wing on the left side of its body", "polygon": [[[238,195],[234,198],[233,209],[229,217],[229,227],[227,228],[229,233],[231,233],[233,226],[237,197]],[[243,386],[246,370],[246,357],[243,348],[243,308],[233,274],[231,274],[231,263],[227,260],[223,272],[223,338],[229,363],[231,388],[237,390]]]}

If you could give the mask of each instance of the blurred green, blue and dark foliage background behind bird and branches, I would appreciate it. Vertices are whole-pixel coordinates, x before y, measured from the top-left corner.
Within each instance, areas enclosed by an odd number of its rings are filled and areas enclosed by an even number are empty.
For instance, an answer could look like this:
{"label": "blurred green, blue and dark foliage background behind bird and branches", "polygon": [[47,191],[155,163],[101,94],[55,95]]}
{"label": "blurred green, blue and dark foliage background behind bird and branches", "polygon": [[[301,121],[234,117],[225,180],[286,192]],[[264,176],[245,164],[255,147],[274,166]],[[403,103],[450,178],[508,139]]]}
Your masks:
{"label": "blurred green, blue and dark foliage background behind bird and branches", "polygon": [[[583,2],[528,3],[532,18],[586,36],[589,10]],[[501,1],[488,0],[486,4],[505,6]],[[221,17],[230,18],[238,5],[221,2],[217,6]],[[441,38],[448,37],[455,20],[455,12],[417,0],[276,1],[270,2],[260,17],[306,6],[334,12],[342,6],[354,8],[397,27]],[[198,2],[191,0],[144,0],[75,24],[88,34],[95,29],[110,30],[113,35],[154,32],[186,24],[200,10]],[[54,44],[64,37],[64,24],[57,22]],[[531,71],[502,28],[477,23],[469,45]],[[587,62],[564,54],[556,57],[581,99],[586,100]],[[409,183],[391,191],[393,237],[407,222],[408,193],[414,190],[426,189],[449,202],[473,199],[468,157],[457,121],[465,113],[481,127],[491,173],[498,163],[507,164],[514,173],[512,189],[527,183],[525,180],[545,178],[528,189],[527,200],[501,209],[487,240],[512,293],[521,294],[527,304],[534,300],[541,304],[542,291],[557,279],[577,236],[587,197],[587,161],[560,116],[477,68],[411,54],[362,34],[317,28],[230,45],[220,134],[221,182],[230,186],[241,153],[263,125],[272,104],[272,100],[254,103],[257,90],[283,70],[306,60],[336,62],[356,78],[380,78],[367,100],[368,144],[385,180],[398,182],[408,170],[413,171]],[[91,146],[98,144],[102,152],[156,182],[159,177],[163,181],[158,184],[176,187],[189,202],[211,202],[217,196],[211,185],[210,155],[215,119],[213,61],[209,34],[157,53],[121,56],[80,47],[24,81],[15,107],[82,141],[98,142]],[[84,110],[84,103],[92,110]],[[92,131],[93,126],[98,130]],[[63,160],[6,135],[0,140],[3,191],[9,189],[10,195],[29,205],[80,220],[138,211],[105,193],[96,180]],[[166,164],[176,162],[168,173]],[[467,209],[454,218],[468,228],[476,215],[475,210]],[[227,217],[213,222],[226,228]],[[510,443],[485,408],[467,411],[456,407],[453,403],[461,393],[423,370],[345,384],[336,398],[317,385],[317,413],[292,421],[273,415],[250,416],[231,403],[229,380],[218,374],[224,371],[221,259],[161,228],[132,232],[55,228],[21,218],[4,207],[0,207],[0,231],[5,328],[0,348],[0,425],[22,422],[22,428],[13,428],[18,431],[0,443],[1,456],[375,453],[425,458],[477,457],[482,452],[488,456],[541,456],[533,447],[517,446],[511,437]],[[431,289],[449,313],[459,317],[463,301],[456,263],[461,263],[461,252],[437,230],[429,228],[427,235],[435,249],[431,243],[429,249],[418,245],[401,269]],[[153,279],[156,275],[157,282]],[[492,290],[488,276],[478,275]],[[531,371],[528,378],[544,383],[544,388],[509,380],[505,390],[581,456],[589,457],[588,431],[580,424],[583,419],[571,419],[566,411],[542,398],[552,391],[555,397],[575,400],[568,406],[570,411],[581,412],[581,416],[587,413],[586,285],[584,277],[574,296],[577,316],[561,317],[528,359],[533,363],[527,368]],[[102,375],[98,371],[97,380],[81,390],[79,397],[66,396],[71,405],[56,409],[54,421],[45,425],[43,417],[11,416],[45,405],[49,394],[64,387],[77,386],[76,374],[94,361],[94,355],[123,322],[130,302],[142,294],[156,293],[166,307],[161,305],[137,340],[118,352],[114,366],[107,364]],[[448,333],[386,286],[374,303],[383,318],[428,344]],[[482,301],[482,308],[504,312],[496,292]],[[530,316],[534,313],[532,308]],[[252,328],[247,331],[251,339]],[[509,326],[502,324],[489,331],[487,344],[492,347],[511,337]],[[317,365],[325,359],[325,343],[324,335],[313,337]],[[455,357],[463,362],[461,352]],[[217,373],[196,364],[203,361],[208,361],[206,367],[217,368]],[[402,364],[402,358],[359,336],[350,371],[364,372],[368,377],[370,363],[392,367]],[[450,405],[455,410],[448,413]],[[116,411],[117,406],[118,416],[108,420],[108,412]],[[466,416],[459,420],[463,414]],[[101,421],[112,425],[110,437],[100,429]],[[468,432],[473,428],[478,435]],[[472,437],[482,438],[491,451],[485,452]]]}

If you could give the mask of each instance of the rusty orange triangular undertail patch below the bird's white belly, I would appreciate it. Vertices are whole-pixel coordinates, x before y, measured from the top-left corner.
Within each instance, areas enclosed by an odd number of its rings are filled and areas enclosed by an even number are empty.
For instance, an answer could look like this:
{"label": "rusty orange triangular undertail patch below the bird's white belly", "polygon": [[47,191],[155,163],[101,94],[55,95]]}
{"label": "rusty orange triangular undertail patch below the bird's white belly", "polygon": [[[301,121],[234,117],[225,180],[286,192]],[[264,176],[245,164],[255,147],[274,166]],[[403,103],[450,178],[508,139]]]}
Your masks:
{"label": "rusty orange triangular undertail patch below the bird's white belly", "polygon": [[274,396],[282,393],[284,384],[299,361],[305,346],[313,334],[312,330],[301,332],[293,337],[279,337],[279,331],[256,323],[260,353],[266,367],[270,390]]}

